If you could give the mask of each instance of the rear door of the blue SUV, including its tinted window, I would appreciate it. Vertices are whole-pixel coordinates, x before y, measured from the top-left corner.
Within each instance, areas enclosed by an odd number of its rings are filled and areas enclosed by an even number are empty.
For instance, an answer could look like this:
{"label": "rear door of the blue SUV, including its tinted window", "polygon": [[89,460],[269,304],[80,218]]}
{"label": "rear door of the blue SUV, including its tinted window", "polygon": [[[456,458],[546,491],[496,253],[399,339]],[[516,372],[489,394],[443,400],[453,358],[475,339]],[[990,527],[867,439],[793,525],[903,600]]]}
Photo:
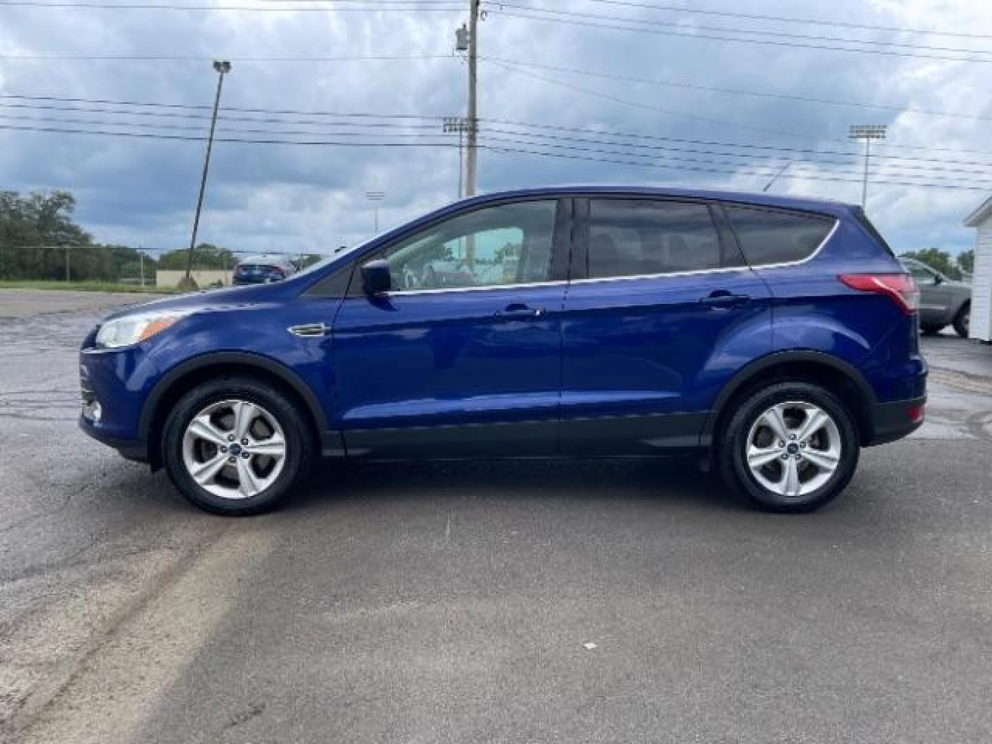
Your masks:
{"label": "rear door of the blue SUV, including its tinted window", "polygon": [[771,347],[764,282],[704,201],[576,201],[565,299],[561,448],[694,447],[719,390]]}

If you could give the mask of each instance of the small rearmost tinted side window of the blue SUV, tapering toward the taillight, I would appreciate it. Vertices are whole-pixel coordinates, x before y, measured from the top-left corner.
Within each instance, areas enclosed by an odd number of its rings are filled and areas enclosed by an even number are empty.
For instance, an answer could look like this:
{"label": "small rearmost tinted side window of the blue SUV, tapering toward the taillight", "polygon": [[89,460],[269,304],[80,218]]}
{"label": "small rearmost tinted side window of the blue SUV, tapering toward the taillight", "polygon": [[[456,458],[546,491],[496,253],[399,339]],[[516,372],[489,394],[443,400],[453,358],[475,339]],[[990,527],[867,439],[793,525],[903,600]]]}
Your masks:
{"label": "small rearmost tinted side window of the blue SUV, tapering toward the taillight", "polygon": [[809,258],[834,224],[834,220],[814,214],[726,204],[723,209],[751,266]]}

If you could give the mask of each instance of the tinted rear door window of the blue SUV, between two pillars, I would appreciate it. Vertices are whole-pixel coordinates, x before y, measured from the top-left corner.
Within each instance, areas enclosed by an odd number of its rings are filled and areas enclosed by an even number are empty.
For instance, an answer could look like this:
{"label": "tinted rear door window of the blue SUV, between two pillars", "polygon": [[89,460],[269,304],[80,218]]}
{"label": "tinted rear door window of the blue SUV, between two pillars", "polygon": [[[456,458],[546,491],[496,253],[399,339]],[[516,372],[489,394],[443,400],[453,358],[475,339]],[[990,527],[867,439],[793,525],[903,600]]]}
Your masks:
{"label": "tinted rear door window of the blue SUV, between two pillars", "polygon": [[704,271],[739,263],[739,258],[724,260],[705,204],[653,199],[589,202],[590,279]]}

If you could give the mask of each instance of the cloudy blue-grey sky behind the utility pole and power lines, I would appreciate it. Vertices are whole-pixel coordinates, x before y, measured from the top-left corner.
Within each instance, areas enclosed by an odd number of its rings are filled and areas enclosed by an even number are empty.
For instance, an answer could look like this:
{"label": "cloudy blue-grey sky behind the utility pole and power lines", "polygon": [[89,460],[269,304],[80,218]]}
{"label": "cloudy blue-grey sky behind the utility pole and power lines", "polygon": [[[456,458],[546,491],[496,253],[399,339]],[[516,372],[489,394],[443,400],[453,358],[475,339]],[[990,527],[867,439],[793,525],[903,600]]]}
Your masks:
{"label": "cloudy blue-grey sky behind the utility pole and power lines", "polygon": [[[383,226],[456,196],[457,139],[440,117],[465,109],[454,29],[468,0],[37,4],[55,2],[0,1],[0,187],[70,189],[79,221],[99,240],[152,250],[188,241],[213,58],[233,70],[201,240],[326,252],[372,232],[367,191],[386,193]],[[961,221],[992,193],[990,2],[483,8],[480,190],[760,190],[788,163],[772,191],[858,201],[848,125],[888,124],[869,215],[898,251],[971,245]]]}

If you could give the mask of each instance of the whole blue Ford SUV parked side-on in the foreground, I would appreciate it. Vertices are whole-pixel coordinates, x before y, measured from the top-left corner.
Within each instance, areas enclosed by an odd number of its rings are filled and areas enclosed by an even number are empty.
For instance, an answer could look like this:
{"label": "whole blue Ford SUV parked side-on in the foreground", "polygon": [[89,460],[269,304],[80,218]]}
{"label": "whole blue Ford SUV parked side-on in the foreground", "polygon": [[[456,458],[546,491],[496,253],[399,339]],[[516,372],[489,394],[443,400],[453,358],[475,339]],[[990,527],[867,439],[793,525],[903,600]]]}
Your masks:
{"label": "whole blue Ford SUV parked side-on in the foreground", "polygon": [[462,200],[285,282],[123,310],[85,338],[91,436],[211,512],[316,454],[696,453],[809,511],[924,419],[918,291],[859,207],[696,189]]}

